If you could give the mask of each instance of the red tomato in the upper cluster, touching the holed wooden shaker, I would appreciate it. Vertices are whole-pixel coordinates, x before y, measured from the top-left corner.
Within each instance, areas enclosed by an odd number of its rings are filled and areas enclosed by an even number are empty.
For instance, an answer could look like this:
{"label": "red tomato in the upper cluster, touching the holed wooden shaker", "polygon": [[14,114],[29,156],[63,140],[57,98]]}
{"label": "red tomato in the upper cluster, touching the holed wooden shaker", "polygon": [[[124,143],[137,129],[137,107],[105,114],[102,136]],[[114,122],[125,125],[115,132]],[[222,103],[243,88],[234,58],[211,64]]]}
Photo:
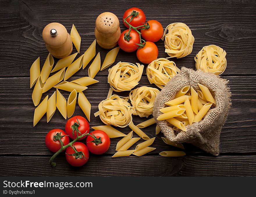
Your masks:
{"label": "red tomato in the upper cluster, touching the holed wooden shaker", "polygon": [[[129,40],[129,42],[127,40],[125,40],[125,33],[129,32],[129,30],[124,30],[121,35],[120,38],[118,40],[118,45],[120,46],[120,48],[122,50],[124,50],[125,52],[133,52],[136,51],[138,48],[137,44],[140,44],[140,36],[139,34],[135,31],[135,30],[131,30],[130,32],[130,37],[131,39]],[[137,44],[136,44],[137,43]]]}

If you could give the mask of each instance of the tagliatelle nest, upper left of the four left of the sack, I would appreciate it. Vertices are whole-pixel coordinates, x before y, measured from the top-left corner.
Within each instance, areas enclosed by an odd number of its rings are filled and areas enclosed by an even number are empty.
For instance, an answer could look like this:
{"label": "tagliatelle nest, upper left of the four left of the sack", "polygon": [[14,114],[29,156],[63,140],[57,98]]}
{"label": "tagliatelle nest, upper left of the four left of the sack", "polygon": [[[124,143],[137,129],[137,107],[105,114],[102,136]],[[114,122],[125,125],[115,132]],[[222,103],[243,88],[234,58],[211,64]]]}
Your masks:
{"label": "tagliatelle nest, upper left of the four left of the sack", "polygon": [[109,69],[108,83],[114,91],[130,91],[139,84],[144,66],[136,64],[118,62]]}

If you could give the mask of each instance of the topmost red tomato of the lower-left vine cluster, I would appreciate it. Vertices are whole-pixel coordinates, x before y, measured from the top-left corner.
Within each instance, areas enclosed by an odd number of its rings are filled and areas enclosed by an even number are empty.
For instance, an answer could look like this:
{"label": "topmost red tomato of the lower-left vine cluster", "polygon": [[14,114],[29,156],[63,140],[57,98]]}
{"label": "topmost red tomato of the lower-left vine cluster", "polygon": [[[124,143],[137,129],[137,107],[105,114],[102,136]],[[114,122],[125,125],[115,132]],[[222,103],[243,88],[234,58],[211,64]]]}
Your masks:
{"label": "topmost red tomato of the lower-left vine cluster", "polygon": [[[90,131],[90,126],[88,121],[80,115],[76,115],[70,118],[65,125],[65,131],[67,135],[69,135],[69,137],[72,138],[73,140],[77,137],[77,129],[80,131],[81,134],[89,133]],[[74,132],[74,135],[73,135],[73,132]],[[79,136],[81,135],[80,133],[78,132]],[[86,136],[84,136],[79,140],[82,140],[84,138],[86,138]]]}

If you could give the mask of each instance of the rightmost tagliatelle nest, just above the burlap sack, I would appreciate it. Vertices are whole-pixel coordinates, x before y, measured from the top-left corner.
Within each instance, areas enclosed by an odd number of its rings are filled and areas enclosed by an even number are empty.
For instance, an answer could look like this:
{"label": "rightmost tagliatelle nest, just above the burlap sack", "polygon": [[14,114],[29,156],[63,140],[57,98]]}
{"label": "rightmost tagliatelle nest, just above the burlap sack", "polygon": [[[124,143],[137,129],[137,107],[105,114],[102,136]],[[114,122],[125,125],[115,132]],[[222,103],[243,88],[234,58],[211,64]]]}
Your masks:
{"label": "rightmost tagliatelle nest, just above the burlap sack", "polygon": [[221,75],[227,67],[226,54],[226,51],[219,46],[204,46],[195,56],[195,68]]}

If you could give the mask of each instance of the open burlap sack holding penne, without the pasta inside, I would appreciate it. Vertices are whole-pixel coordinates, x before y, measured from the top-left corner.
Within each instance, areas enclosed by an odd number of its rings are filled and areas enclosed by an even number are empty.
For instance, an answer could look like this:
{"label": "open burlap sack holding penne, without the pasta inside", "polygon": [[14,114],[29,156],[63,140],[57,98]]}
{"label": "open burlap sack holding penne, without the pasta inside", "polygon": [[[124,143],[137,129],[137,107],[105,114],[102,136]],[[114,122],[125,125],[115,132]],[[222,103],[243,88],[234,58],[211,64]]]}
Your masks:
{"label": "open burlap sack holding penne, without the pasta inside", "polygon": [[[157,117],[162,114],[160,109],[165,106],[166,102],[172,100],[182,87],[190,85],[195,90],[200,90],[197,83],[207,86],[211,93],[214,93],[216,101],[216,107],[210,109],[201,121],[186,126],[187,131],[175,132],[165,120],[157,120]],[[227,119],[231,106],[231,93],[227,83],[227,80],[214,74],[182,67],[181,72],[170,79],[154,102],[153,116],[165,137],[174,142],[191,143],[217,156],[219,154],[221,128]]]}

